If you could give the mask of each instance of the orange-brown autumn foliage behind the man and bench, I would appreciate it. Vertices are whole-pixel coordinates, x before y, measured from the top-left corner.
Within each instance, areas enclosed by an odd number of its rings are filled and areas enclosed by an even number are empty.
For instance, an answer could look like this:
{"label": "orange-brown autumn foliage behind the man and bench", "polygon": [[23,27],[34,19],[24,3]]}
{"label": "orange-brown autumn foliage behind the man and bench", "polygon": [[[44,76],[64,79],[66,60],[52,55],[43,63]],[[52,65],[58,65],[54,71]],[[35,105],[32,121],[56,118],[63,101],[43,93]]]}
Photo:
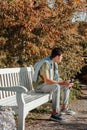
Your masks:
{"label": "orange-brown autumn foliage behind the man and bench", "polygon": [[61,46],[61,77],[76,75],[87,52],[87,23],[71,19],[84,5],[80,0],[56,0],[51,9],[45,0],[0,0],[0,67],[33,65]]}

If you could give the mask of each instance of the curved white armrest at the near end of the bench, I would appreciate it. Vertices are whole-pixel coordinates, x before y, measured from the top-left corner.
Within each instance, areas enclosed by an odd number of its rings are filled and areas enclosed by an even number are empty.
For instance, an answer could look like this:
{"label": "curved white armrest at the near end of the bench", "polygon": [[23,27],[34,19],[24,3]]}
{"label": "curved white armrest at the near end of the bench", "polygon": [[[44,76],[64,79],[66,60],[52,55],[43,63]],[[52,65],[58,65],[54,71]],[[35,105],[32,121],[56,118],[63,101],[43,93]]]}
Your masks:
{"label": "curved white armrest at the near end of the bench", "polygon": [[17,93],[26,93],[28,89],[24,86],[0,87],[0,91],[12,91]]}

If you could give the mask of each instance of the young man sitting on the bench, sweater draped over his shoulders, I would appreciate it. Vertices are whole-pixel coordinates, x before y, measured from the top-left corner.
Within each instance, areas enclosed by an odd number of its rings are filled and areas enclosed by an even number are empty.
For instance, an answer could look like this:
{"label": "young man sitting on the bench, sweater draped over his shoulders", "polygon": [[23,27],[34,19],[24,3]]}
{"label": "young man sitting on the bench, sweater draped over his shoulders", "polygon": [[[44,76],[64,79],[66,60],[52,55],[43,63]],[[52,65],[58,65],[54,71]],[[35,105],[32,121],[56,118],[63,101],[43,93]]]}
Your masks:
{"label": "young man sitting on the bench, sweater draped over his shoulders", "polygon": [[[64,121],[61,113],[75,114],[68,109],[70,87],[74,84],[68,81],[59,81],[58,64],[63,58],[63,50],[55,47],[51,55],[37,62],[34,66],[34,82],[38,87],[36,92],[52,92],[52,114],[51,119]],[[60,111],[60,89],[63,91],[63,105]]]}

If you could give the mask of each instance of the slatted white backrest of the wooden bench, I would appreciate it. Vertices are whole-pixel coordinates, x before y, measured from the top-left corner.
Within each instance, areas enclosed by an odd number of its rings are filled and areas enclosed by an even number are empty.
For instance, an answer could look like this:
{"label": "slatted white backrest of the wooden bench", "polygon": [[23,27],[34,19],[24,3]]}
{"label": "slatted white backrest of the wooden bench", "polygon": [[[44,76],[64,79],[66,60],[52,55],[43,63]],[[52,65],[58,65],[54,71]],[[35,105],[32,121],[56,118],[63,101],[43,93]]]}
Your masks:
{"label": "slatted white backrest of the wooden bench", "polygon": [[[0,86],[25,86],[30,91],[33,89],[33,72],[32,67],[0,69]],[[14,94],[14,92],[0,91],[0,98],[5,98]]]}

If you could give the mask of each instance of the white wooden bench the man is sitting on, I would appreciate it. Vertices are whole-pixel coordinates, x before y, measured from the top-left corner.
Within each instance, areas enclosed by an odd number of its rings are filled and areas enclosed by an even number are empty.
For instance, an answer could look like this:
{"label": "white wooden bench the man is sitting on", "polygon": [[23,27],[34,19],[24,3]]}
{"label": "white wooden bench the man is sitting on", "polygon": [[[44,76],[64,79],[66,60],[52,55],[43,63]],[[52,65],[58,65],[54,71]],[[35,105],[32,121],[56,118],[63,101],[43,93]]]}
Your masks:
{"label": "white wooden bench the man is sitting on", "polygon": [[33,67],[0,69],[0,106],[10,106],[18,113],[18,130],[25,130],[29,111],[51,100],[51,94],[34,91],[33,74]]}

